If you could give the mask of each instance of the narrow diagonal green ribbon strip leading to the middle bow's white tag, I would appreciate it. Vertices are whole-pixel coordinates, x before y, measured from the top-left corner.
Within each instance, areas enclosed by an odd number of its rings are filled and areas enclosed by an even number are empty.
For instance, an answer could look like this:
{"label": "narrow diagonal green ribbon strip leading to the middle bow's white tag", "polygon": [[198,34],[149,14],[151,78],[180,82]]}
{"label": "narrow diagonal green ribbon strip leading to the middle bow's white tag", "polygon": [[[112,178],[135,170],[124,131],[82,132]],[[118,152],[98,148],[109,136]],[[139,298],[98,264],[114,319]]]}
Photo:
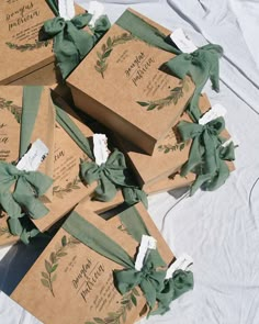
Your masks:
{"label": "narrow diagonal green ribbon strip leading to the middle bow's white tag", "polygon": [[54,104],[56,110],[56,121],[58,124],[68,133],[68,135],[74,139],[75,143],[81,148],[86,155],[94,159],[93,154],[90,148],[88,138],[82,134],[79,127],[72,122],[69,115],[57,104]]}

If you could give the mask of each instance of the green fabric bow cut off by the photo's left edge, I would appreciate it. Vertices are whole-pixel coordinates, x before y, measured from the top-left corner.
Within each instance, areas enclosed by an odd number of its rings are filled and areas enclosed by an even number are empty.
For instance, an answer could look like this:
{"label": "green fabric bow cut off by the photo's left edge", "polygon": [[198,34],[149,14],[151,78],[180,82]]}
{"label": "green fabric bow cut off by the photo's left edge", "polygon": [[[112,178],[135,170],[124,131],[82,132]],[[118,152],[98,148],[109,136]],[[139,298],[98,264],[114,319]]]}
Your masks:
{"label": "green fabric bow cut off by the photo's left edge", "polygon": [[[53,180],[38,171],[21,171],[14,165],[0,161],[0,204],[10,216],[8,223],[13,235],[23,233],[22,210],[32,219],[41,219],[48,209],[37,199],[52,186]],[[13,193],[11,187],[15,185]],[[24,234],[23,234],[24,235]]]}

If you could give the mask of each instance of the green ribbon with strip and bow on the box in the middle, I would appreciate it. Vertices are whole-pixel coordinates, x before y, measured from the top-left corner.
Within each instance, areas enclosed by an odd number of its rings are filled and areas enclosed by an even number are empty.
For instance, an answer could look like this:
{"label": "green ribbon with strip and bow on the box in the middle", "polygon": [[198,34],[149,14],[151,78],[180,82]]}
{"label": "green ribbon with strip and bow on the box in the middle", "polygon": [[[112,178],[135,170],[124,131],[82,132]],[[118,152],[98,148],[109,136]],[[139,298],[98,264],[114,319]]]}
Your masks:
{"label": "green ribbon with strip and bow on the box in the middle", "polygon": [[[72,122],[69,115],[55,104],[56,120],[60,126],[69,134],[86,155],[94,160],[88,138]],[[112,200],[119,188],[122,189],[124,200],[128,205],[142,201],[147,208],[147,197],[138,189],[131,179],[130,170],[126,167],[124,155],[115,149],[108,158],[106,163],[98,166],[94,161],[81,161],[80,175],[82,179],[91,185],[98,181],[95,198],[100,201]]]}

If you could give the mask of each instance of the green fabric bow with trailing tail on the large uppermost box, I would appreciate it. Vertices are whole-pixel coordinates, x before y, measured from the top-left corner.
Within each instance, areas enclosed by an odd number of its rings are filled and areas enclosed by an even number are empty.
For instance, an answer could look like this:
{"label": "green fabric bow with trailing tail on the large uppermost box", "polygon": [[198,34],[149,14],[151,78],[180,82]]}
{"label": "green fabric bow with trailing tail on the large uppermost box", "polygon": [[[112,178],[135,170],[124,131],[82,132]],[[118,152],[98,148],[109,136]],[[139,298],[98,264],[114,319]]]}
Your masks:
{"label": "green fabric bow with trailing tail on the large uppermost box", "polygon": [[219,91],[218,59],[222,55],[223,48],[219,45],[209,44],[193,53],[177,55],[165,64],[173,76],[183,79],[188,75],[192,78],[195,91],[187,111],[194,122],[198,122],[201,116],[199,99],[209,78],[213,90]]}

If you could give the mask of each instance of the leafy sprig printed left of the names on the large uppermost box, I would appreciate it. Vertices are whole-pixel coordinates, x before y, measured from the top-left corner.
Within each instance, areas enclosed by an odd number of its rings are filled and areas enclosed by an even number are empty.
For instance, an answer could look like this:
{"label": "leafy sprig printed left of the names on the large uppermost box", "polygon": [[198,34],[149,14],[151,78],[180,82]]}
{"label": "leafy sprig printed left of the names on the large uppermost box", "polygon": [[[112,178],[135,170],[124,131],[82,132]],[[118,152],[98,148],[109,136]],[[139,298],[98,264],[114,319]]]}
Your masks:
{"label": "leafy sprig printed left of the names on the large uppermost box", "polygon": [[106,44],[102,44],[101,51],[97,52],[98,60],[95,64],[95,70],[101,74],[102,78],[104,78],[104,71],[108,68],[108,57],[111,55],[113,48],[120,44],[124,44],[128,41],[136,40],[132,34],[123,33],[120,36],[109,37]]}

